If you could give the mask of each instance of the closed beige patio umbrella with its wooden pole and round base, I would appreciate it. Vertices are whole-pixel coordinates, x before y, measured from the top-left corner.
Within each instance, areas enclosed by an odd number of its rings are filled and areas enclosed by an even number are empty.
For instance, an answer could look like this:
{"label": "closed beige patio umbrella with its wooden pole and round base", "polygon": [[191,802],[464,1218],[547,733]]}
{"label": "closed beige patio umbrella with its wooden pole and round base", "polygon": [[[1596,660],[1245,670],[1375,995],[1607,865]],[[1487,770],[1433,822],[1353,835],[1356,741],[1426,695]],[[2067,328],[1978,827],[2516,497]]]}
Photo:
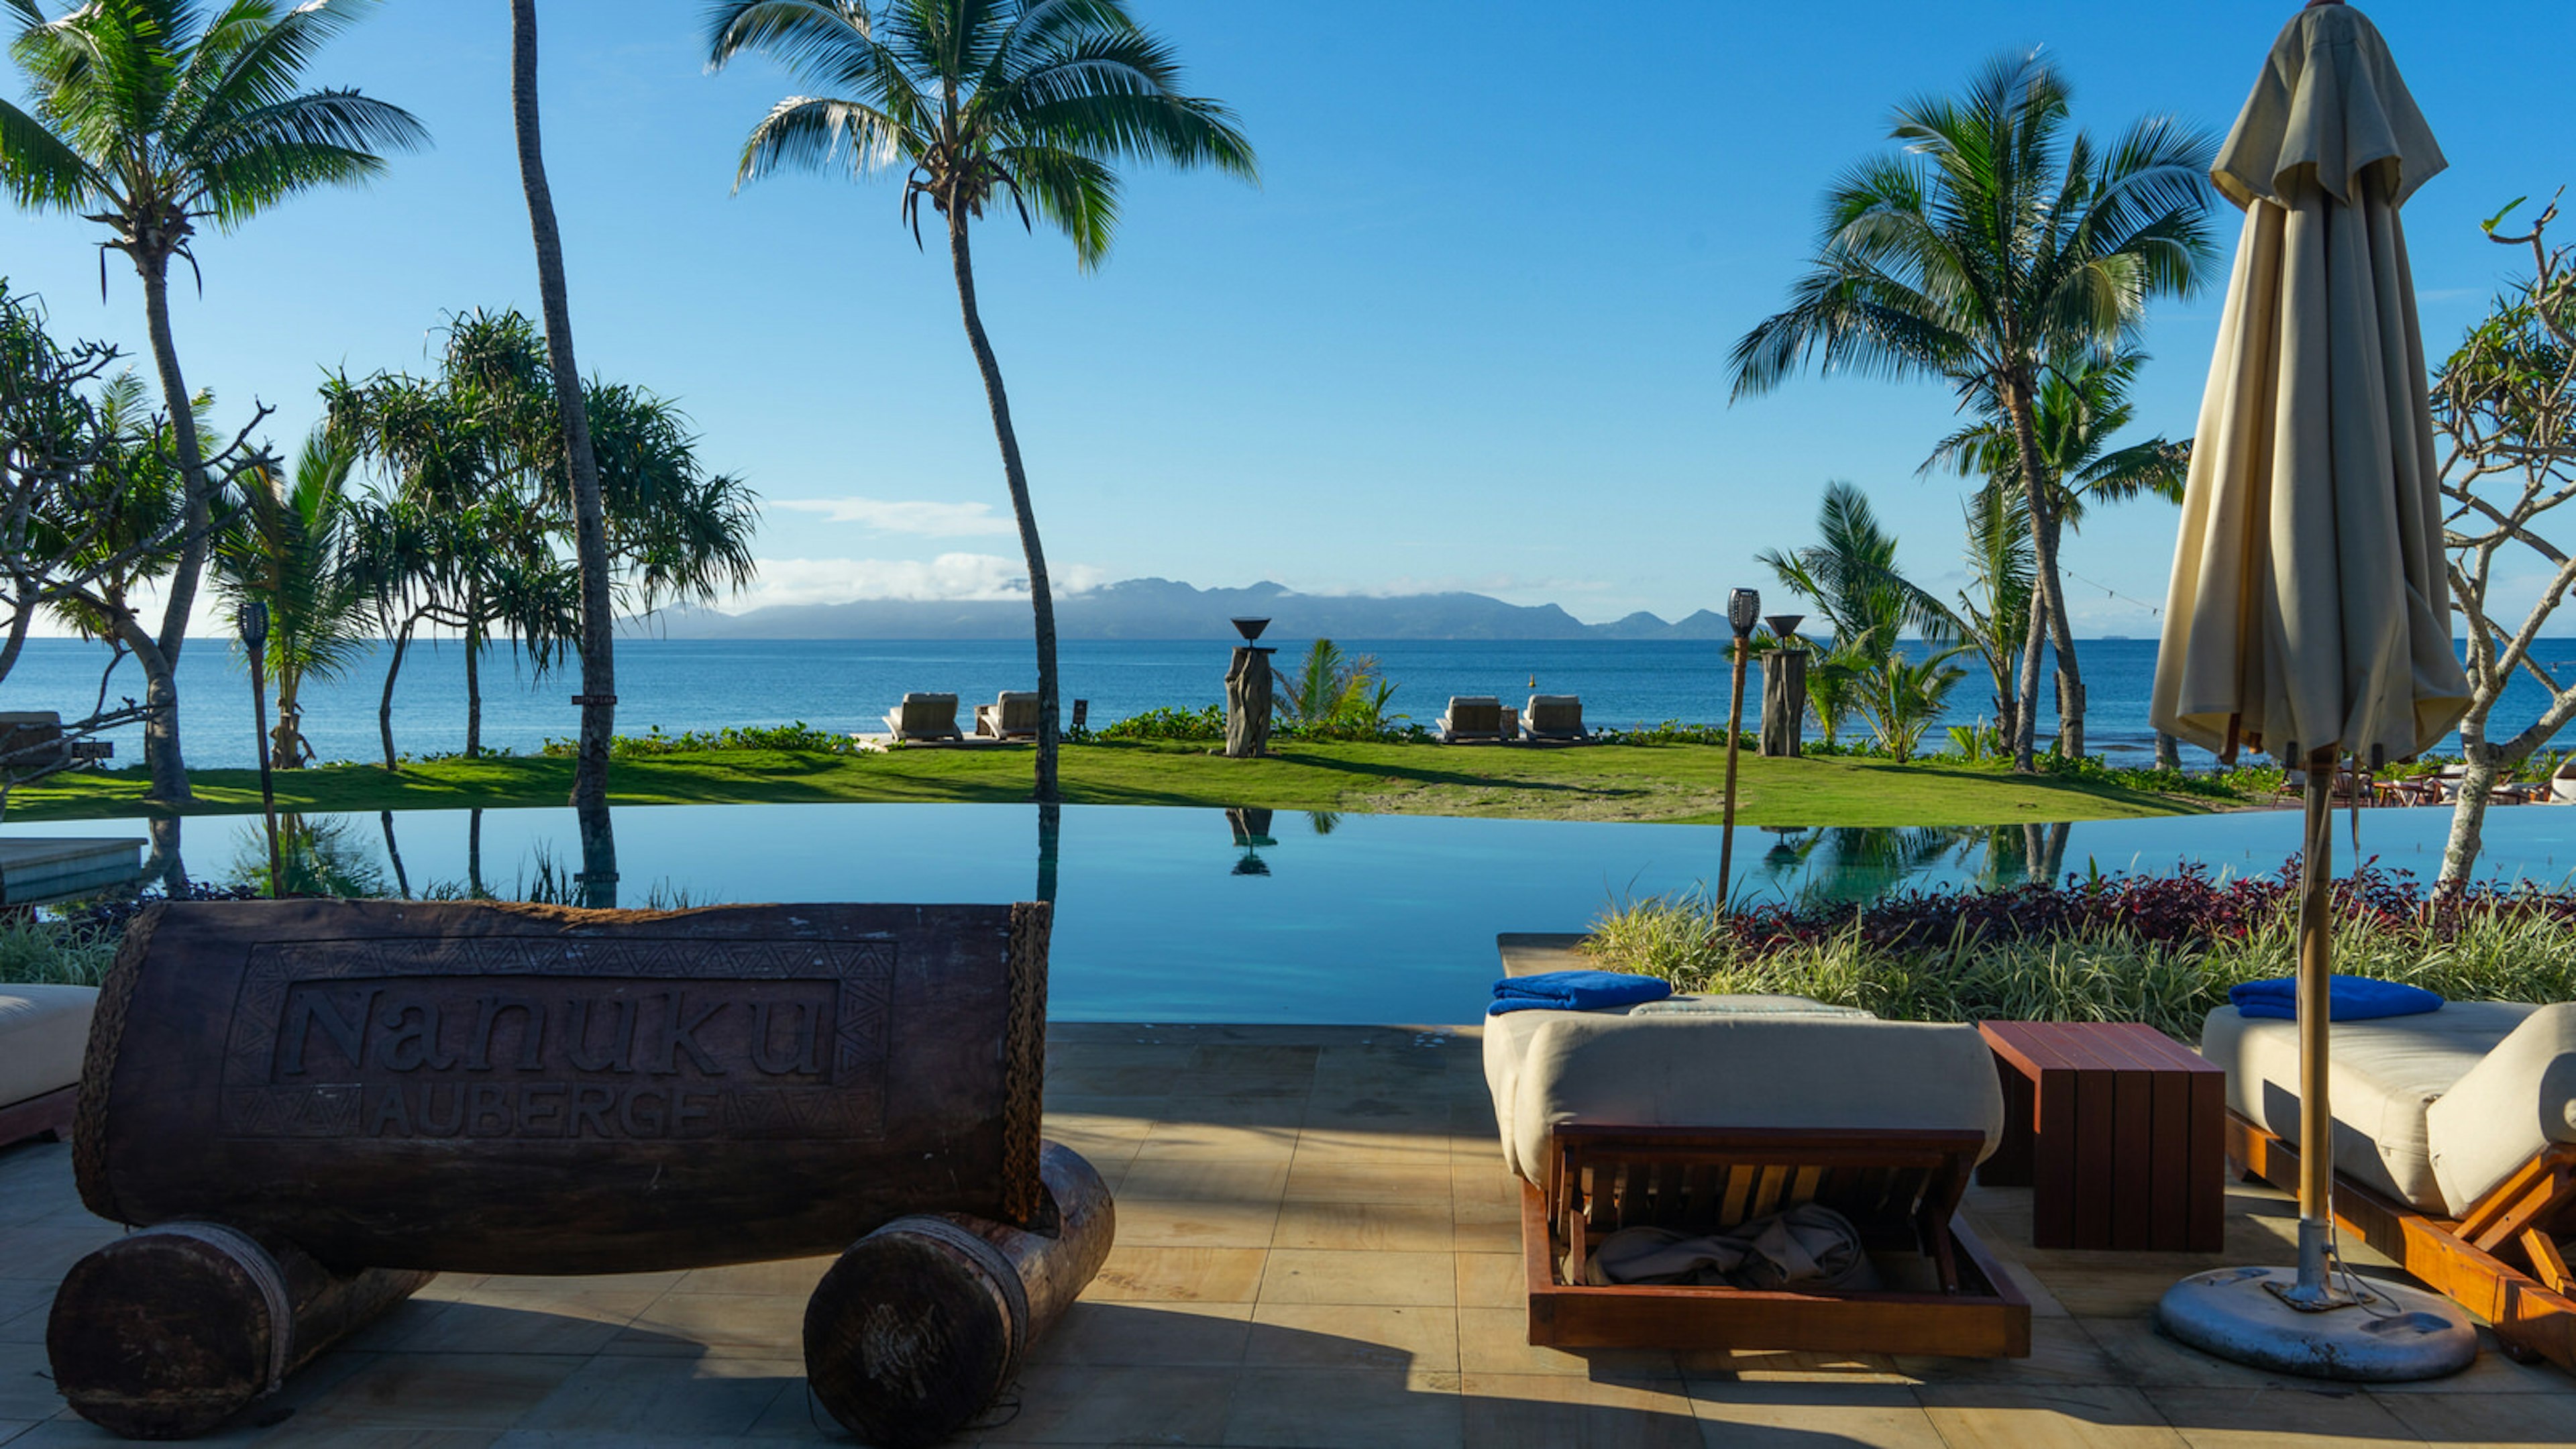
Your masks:
{"label": "closed beige patio umbrella with its wooden pole and round base", "polygon": [[[2197,1274],[2166,1328],[2326,1377],[2476,1356],[2445,1299],[2334,1281],[2326,1101],[2331,833],[2342,755],[2416,755],[2468,709],[2450,642],[2424,340],[2398,209],[2447,162],[2378,28],[2311,0],[2282,28],[2213,178],[2246,224],[2210,361],[2151,696],[2154,724],[2306,768],[2298,920],[2298,1271]],[[2403,1312],[2391,1315],[2391,1307]],[[2393,1320],[2414,1328],[2391,1330]]]}

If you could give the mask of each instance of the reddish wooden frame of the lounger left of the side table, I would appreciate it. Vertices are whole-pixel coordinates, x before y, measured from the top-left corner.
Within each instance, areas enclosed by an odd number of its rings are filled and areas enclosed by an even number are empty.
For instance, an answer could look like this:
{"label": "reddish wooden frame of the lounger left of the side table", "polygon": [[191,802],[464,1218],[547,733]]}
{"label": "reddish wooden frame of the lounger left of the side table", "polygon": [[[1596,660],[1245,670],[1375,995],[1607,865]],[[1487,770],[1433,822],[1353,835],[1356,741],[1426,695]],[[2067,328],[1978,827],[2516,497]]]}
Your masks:
{"label": "reddish wooden frame of the lounger left of the side table", "polygon": [[[1953,1217],[1981,1132],[1558,1124],[1548,1186],[1522,1183],[1530,1343],[2030,1356],[2030,1299]],[[1620,1227],[1723,1230],[1821,1201],[1878,1250],[1922,1253],[1942,1292],[1584,1287],[1558,1263]],[[1582,1261],[1582,1258],[1574,1258]]]}

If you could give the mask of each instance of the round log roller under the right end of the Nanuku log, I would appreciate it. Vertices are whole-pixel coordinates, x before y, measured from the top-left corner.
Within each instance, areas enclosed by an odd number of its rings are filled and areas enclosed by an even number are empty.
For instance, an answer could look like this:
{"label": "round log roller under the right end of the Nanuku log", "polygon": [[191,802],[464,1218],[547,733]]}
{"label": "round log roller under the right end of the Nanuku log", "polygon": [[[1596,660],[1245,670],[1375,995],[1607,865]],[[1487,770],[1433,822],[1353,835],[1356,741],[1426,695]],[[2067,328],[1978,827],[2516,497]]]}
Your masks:
{"label": "round log roller under the right end of the Nanuku log", "polygon": [[806,1299],[806,1382],[866,1444],[935,1444],[984,1413],[1020,1354],[1100,1274],[1118,1230],[1110,1189],[1048,1142],[1051,1220],[896,1217],[832,1263]]}

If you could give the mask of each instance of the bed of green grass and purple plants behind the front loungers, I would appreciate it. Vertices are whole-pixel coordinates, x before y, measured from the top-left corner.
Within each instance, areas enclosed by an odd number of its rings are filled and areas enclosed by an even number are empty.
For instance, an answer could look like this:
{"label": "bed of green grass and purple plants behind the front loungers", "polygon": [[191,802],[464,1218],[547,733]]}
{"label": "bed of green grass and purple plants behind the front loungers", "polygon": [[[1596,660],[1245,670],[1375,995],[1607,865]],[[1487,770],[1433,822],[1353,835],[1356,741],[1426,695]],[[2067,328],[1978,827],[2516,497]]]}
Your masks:
{"label": "bed of green grass and purple plants behind the front loungers", "polygon": [[[2336,882],[2334,923],[2344,975],[2452,1000],[2576,998],[2576,892],[2434,900],[2409,874],[2362,866]],[[1602,913],[1589,949],[1680,990],[1808,995],[1891,1021],[2146,1021],[2197,1042],[2228,987],[2293,975],[2298,866],[1734,913],[1705,895],[1656,897]]]}

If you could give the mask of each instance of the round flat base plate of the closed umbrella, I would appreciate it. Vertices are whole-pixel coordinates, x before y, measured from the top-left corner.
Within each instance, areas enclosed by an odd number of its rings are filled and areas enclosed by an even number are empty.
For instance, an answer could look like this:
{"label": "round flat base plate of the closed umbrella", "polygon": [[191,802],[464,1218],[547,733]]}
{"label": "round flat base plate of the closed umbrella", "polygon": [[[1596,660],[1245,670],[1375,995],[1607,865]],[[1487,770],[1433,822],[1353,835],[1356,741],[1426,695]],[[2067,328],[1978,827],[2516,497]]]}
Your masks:
{"label": "round flat base plate of the closed umbrella", "polygon": [[2164,1292],[2156,1323],[2174,1338],[2257,1369],[2388,1385],[2439,1379],[2478,1361],[2478,1330],[2445,1297],[2372,1281],[2370,1299],[2300,1310],[2282,1299],[2295,1269],[2213,1269]]}

